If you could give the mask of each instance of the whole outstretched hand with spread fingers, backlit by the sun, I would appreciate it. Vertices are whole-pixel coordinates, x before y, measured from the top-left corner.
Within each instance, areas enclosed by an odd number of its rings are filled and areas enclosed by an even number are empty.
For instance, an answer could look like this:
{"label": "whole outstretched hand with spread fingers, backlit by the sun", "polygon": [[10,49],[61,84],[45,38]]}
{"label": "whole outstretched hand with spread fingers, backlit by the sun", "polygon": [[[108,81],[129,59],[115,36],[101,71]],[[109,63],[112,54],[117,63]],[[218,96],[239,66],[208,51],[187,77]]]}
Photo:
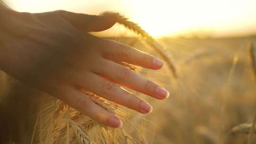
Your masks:
{"label": "whole outstretched hand with spread fingers, backlit by the sun", "polygon": [[119,127],[119,117],[82,95],[78,87],[143,114],[152,107],[121,86],[156,99],[167,98],[169,92],[117,63],[157,70],[163,61],[88,33],[108,29],[116,19],[115,14],[103,17],[64,10],[17,12],[0,4],[0,69],[102,124]]}

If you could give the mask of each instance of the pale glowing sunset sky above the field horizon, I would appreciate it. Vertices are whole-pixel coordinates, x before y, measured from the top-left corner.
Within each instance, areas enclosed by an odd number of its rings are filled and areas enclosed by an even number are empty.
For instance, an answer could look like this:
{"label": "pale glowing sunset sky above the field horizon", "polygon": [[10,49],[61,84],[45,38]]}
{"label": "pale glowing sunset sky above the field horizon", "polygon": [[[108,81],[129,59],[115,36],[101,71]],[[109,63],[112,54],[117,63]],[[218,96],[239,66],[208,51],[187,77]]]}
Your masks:
{"label": "pale glowing sunset sky above the field horizon", "polygon": [[[212,36],[256,34],[256,0],[5,0],[15,10],[44,12],[64,9],[99,14],[118,11],[153,36],[188,32]],[[132,36],[115,26],[104,36]]]}

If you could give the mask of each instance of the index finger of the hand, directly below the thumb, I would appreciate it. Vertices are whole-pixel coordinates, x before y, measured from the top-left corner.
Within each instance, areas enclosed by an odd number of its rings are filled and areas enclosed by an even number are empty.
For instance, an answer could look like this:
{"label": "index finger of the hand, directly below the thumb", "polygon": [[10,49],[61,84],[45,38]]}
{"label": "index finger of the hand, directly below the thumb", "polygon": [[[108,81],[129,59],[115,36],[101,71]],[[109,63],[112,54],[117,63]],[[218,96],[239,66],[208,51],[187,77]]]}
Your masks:
{"label": "index finger of the hand, directly below the thumb", "polygon": [[105,48],[102,49],[106,59],[115,62],[127,62],[150,69],[160,69],[164,62],[155,56],[141,52],[129,45],[111,40],[104,40]]}

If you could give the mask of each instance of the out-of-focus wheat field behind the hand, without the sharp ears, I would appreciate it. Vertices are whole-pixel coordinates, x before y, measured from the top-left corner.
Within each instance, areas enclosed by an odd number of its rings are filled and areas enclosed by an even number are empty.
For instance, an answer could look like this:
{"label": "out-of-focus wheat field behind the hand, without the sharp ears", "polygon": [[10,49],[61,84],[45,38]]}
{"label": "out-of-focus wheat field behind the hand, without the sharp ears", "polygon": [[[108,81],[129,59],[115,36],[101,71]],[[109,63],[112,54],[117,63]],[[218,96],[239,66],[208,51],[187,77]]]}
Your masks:
{"label": "out-of-focus wheat field behind the hand, without the sharp ears", "polygon": [[[110,39],[161,56],[138,38]],[[148,115],[120,108],[131,113],[129,121],[137,126],[146,143],[256,143],[253,141],[254,135],[249,136],[256,113],[253,56],[256,54],[256,38],[163,37],[158,42],[163,45],[165,54],[172,57],[177,78],[167,66],[160,71],[137,69],[140,74],[162,84],[171,92],[170,97],[158,101],[137,93],[153,106],[152,113]],[[44,97],[47,97],[46,101],[51,101],[51,97],[27,87],[3,72],[0,78],[1,140],[9,140],[10,144],[16,144],[12,141],[29,144],[40,103]],[[126,128],[131,138],[136,137],[136,128]],[[248,139],[252,140],[248,142]],[[122,139],[98,143],[143,144]]]}

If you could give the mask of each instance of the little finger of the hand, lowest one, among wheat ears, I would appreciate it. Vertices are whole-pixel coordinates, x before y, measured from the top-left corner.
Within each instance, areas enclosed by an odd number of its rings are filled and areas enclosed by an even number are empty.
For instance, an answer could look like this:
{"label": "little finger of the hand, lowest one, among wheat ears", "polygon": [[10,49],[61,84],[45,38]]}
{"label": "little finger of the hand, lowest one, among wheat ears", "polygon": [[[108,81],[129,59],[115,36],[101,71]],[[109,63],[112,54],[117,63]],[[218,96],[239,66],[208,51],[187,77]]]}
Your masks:
{"label": "little finger of the hand, lowest one, among wheat ears", "polygon": [[59,98],[66,104],[95,121],[114,128],[122,126],[122,122],[117,116],[101,108],[75,88],[66,87],[59,92],[59,95]]}

